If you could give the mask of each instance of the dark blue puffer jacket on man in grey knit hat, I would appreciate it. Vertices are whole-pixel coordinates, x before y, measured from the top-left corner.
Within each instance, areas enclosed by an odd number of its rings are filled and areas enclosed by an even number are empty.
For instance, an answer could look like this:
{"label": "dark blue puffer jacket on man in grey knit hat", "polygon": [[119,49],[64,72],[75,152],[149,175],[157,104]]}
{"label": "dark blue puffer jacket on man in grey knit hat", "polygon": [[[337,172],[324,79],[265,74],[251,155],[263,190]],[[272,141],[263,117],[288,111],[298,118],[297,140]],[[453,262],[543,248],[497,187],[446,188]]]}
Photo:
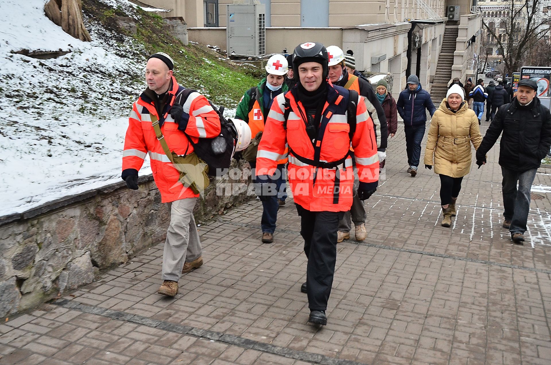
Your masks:
{"label": "dark blue puffer jacket on man in grey knit hat", "polygon": [[423,90],[421,85],[417,90],[402,90],[396,103],[398,114],[404,120],[404,126],[417,127],[426,124],[426,109],[432,116],[436,111],[433,100],[430,99],[428,92]]}

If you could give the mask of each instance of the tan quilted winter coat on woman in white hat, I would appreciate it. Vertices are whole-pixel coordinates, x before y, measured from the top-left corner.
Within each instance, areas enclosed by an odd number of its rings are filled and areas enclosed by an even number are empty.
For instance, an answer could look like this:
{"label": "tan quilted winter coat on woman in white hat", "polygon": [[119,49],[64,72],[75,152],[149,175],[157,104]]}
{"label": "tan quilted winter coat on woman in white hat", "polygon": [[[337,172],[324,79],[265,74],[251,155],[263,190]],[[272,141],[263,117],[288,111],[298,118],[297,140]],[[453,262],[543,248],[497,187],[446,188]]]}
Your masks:
{"label": "tan quilted winter coat on woman in white hat", "polygon": [[466,102],[454,113],[447,108],[446,101],[442,100],[430,121],[425,165],[434,165],[436,174],[461,178],[471,170],[471,142],[477,149],[482,136],[478,118]]}

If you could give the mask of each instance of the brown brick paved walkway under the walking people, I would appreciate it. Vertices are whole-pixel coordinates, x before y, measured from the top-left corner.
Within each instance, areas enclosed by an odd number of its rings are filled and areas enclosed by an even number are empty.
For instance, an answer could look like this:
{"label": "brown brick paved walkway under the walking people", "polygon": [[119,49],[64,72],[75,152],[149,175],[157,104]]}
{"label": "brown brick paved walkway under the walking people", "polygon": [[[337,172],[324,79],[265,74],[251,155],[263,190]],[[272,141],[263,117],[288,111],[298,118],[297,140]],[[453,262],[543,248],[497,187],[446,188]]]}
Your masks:
{"label": "brown brick paved walkway under the walking people", "polygon": [[[485,127],[482,132],[485,132]],[[288,203],[260,243],[260,202],[199,227],[205,264],[160,297],[162,245],[98,282],[0,325],[13,364],[551,364],[551,202],[532,202],[524,246],[501,228],[498,147],[440,227],[439,179],[390,141],[366,201],[368,239],[338,245],[328,324],[307,324],[306,260]],[[542,168],[534,190],[548,191]]]}

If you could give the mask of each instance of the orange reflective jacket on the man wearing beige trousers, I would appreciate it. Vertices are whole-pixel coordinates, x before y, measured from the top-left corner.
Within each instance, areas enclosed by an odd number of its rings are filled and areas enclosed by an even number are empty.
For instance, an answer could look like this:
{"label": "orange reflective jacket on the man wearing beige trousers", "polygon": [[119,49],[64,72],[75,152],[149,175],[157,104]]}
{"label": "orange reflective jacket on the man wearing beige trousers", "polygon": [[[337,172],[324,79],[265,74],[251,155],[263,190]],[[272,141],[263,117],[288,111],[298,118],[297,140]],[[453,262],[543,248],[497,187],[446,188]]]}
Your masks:
{"label": "orange reflective jacket on the man wearing beige trousers", "polygon": [[[182,88],[180,88],[182,89]],[[132,106],[132,115],[128,121],[126,131],[125,148],[122,157],[122,169],[139,169],[142,167],[146,154],[149,154],[151,169],[155,184],[161,193],[163,203],[179,200],[187,197],[196,197],[189,187],[183,186],[178,182],[180,173],[176,170],[169,158],[163,151],[163,147],[155,136],[152,127],[152,120],[149,114],[152,114],[160,122],[161,132],[168,144],[170,151],[179,155],[190,154],[193,152],[193,145],[188,141],[185,133],[178,130],[178,124],[169,114],[175,96],[179,90],[174,76],[172,77],[172,88],[169,90],[169,100],[159,116],[153,100],[142,93],[138,101]],[[220,119],[217,112],[212,109],[208,100],[197,92],[191,93],[182,105],[183,111],[190,115],[187,123],[186,133],[198,142],[198,137],[213,138],[220,134]]]}

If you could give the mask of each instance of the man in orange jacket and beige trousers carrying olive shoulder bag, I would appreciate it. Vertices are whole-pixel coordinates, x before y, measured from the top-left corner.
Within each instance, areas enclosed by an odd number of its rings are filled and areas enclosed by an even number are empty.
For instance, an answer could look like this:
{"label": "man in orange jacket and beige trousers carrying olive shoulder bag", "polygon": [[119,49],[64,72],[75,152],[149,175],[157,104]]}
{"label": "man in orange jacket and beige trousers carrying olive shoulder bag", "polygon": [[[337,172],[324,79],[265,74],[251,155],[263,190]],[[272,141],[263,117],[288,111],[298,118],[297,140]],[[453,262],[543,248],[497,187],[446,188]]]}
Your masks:
{"label": "man in orange jacket and beige trousers carrying olive shoulder bag", "polygon": [[122,157],[122,179],[129,189],[137,190],[138,171],[149,154],[161,201],[169,203],[171,217],[163,251],[163,285],[158,293],[170,297],[178,293],[182,273],[203,264],[193,218],[199,195],[179,182],[180,173],[164,153],[152,122],[159,121],[170,151],[178,155],[193,152],[189,138],[197,143],[198,137],[213,138],[220,133],[220,118],[203,95],[192,92],[186,100],[180,100],[184,88],[172,76],[173,67],[174,62],[166,53],[149,57],[145,66],[148,87],[132,107]]}

